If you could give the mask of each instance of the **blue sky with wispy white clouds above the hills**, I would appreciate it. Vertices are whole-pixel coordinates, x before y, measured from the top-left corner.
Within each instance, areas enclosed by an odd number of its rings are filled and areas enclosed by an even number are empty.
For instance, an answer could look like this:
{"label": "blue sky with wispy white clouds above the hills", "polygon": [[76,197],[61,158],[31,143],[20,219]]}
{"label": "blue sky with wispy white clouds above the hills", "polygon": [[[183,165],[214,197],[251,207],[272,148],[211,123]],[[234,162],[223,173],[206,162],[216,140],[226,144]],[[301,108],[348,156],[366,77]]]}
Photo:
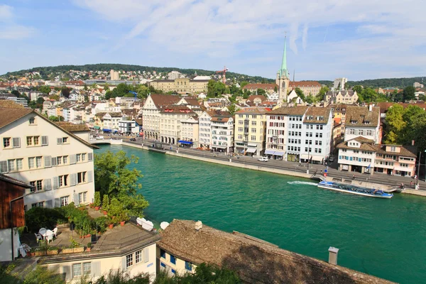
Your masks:
{"label": "blue sky with wispy white clouds above the hills", "polygon": [[122,63],[290,79],[426,75],[423,0],[1,0],[0,74]]}

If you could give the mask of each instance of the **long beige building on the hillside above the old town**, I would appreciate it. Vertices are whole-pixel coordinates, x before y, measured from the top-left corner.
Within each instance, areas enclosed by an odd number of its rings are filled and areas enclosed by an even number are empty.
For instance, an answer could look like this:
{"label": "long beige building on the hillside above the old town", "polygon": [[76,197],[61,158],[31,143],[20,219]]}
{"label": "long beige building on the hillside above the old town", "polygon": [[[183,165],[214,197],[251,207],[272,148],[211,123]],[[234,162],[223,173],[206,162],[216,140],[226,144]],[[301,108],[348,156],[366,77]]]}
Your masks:
{"label": "long beige building on the hillside above the old town", "polygon": [[163,92],[177,92],[178,94],[196,94],[207,92],[209,80],[190,80],[189,78],[178,78],[175,80],[154,80],[148,82],[154,89]]}

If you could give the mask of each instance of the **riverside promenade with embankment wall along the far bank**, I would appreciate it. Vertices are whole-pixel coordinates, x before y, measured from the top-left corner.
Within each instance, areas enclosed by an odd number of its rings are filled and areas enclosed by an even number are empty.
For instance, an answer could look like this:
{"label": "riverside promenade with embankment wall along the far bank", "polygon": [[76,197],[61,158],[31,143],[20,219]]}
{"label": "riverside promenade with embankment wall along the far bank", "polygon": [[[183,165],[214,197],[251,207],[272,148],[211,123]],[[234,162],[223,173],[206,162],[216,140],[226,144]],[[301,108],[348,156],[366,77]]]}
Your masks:
{"label": "riverside promenade with embankment wall along the far bank", "polygon": [[[131,146],[136,148],[142,148],[149,150],[153,141],[138,139],[138,141],[128,141],[124,140],[123,145]],[[410,177],[400,177],[400,176],[391,176],[384,175],[381,173],[374,173],[373,175],[361,174],[354,172],[344,172],[337,170],[337,160],[327,166],[324,165],[309,165],[309,173],[307,173],[307,165],[295,162],[288,162],[285,160],[268,160],[268,162],[258,161],[257,158],[251,156],[239,156],[230,157],[225,153],[212,153],[210,151],[202,151],[191,148],[181,148],[176,146],[167,146],[165,147],[165,154],[175,155],[181,158],[191,158],[194,160],[202,160],[210,163],[218,163],[222,165],[236,166],[239,168],[247,168],[251,170],[262,170],[269,173],[278,173],[283,175],[292,175],[300,178],[312,178],[314,173],[320,175],[324,173],[324,170],[327,170],[327,180],[332,179],[344,179],[344,180],[353,180],[354,185],[364,186],[364,187],[375,187],[384,189],[385,187],[398,186],[403,183],[405,187],[410,187],[410,182],[415,182],[413,178]],[[355,178],[354,178],[355,175]],[[412,195],[421,195],[426,197],[426,182],[419,180],[420,190],[410,190],[406,189],[403,193],[408,193]]]}

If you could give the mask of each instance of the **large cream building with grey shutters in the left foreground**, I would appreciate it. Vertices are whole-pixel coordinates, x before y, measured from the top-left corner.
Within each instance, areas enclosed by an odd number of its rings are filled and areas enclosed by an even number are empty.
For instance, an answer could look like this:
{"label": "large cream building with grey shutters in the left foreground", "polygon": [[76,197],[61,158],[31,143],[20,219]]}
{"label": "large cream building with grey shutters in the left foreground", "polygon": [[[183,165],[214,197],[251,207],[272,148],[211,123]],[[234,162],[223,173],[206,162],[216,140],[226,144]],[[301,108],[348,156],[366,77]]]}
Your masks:
{"label": "large cream building with grey shutters in the left foreground", "polygon": [[0,173],[33,185],[26,209],[93,201],[97,147],[84,129],[65,129],[32,109],[0,108]]}

